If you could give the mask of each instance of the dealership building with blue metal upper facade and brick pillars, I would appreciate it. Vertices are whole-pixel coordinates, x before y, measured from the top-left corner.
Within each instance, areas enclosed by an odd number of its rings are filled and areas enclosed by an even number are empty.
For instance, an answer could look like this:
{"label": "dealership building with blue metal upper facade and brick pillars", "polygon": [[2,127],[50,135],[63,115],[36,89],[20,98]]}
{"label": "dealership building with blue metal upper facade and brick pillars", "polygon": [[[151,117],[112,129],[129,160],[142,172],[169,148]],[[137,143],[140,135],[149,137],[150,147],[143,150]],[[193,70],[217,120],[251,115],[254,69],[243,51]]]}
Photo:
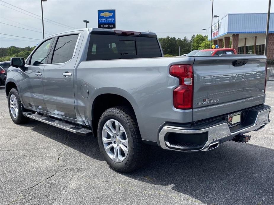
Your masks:
{"label": "dealership building with blue metal upper facade and brick pillars", "polygon": [[[267,13],[227,14],[219,20],[219,32],[218,21],[212,26],[213,44],[218,44],[219,48],[230,48],[232,41],[231,48],[238,54],[264,55],[266,21]],[[274,13],[270,13],[267,58],[274,58]]]}

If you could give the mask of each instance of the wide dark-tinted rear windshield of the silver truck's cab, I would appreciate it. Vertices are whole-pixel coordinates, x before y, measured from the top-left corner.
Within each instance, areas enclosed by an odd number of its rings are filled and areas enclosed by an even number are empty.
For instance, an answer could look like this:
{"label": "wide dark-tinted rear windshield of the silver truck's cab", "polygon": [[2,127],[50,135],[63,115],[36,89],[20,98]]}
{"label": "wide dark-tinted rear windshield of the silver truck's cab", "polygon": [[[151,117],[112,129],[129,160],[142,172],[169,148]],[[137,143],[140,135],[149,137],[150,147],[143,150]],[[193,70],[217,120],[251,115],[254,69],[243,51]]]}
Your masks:
{"label": "wide dark-tinted rear windshield of the silver truck's cab", "polygon": [[92,34],[87,61],[162,57],[156,38]]}

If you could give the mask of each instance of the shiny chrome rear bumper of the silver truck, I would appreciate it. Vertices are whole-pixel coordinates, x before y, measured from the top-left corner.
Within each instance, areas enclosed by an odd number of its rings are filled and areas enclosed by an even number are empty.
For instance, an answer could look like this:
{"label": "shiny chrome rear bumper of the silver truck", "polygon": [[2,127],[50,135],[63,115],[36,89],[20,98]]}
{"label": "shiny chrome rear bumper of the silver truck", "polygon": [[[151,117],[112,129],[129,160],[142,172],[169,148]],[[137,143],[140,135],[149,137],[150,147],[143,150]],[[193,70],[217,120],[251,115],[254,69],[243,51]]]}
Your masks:
{"label": "shiny chrome rear bumper of the silver truck", "polygon": [[[262,109],[262,111],[258,110],[260,108]],[[269,112],[271,111],[270,106],[262,105],[261,107],[258,107],[255,109],[257,109],[257,111],[259,112],[257,113],[257,116],[254,116],[254,119],[255,119],[254,123],[251,126],[245,127],[235,132],[230,132],[230,128],[228,127],[228,124],[225,121],[215,126],[210,126],[210,127],[201,128],[201,129],[189,129],[189,130],[186,129],[185,127],[168,126],[168,125],[164,126],[159,133],[160,146],[163,149],[176,150],[176,151],[182,151],[182,152],[207,151],[209,147],[211,147],[213,144],[216,144],[217,142],[219,142],[221,139],[225,137],[229,137],[229,136],[233,137],[240,133],[244,134],[251,131],[257,131],[260,128],[263,128],[266,124],[270,122],[268,119]],[[197,134],[197,133],[205,133],[205,132],[208,133],[208,139],[206,143],[204,144],[204,146],[201,149],[197,149],[197,150],[180,150],[182,147],[172,145],[165,139],[165,136],[167,133]]]}

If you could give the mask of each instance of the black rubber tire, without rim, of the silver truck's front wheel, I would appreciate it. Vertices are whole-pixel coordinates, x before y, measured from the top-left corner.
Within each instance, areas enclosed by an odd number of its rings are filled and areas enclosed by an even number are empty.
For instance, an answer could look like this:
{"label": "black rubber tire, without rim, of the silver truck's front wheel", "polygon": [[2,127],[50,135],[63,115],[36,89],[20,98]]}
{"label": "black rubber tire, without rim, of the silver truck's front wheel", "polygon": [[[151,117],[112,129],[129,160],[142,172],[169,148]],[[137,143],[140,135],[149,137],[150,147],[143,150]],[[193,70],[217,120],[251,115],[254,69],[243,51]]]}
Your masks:
{"label": "black rubber tire, without rim, of the silver truck's front wheel", "polygon": [[[18,114],[15,117],[12,116],[12,113],[10,111],[10,105],[9,105],[9,100],[10,100],[10,96],[11,95],[15,95],[16,97],[16,100],[17,100],[17,104],[18,104]],[[23,115],[22,113],[22,103],[21,103],[21,100],[20,100],[20,97],[19,97],[19,94],[18,94],[18,91],[15,89],[15,88],[12,88],[10,91],[9,91],[9,95],[8,95],[8,107],[9,107],[9,115],[10,117],[12,118],[12,121],[15,123],[15,124],[23,124],[23,123],[27,123],[30,118],[27,118]]]}

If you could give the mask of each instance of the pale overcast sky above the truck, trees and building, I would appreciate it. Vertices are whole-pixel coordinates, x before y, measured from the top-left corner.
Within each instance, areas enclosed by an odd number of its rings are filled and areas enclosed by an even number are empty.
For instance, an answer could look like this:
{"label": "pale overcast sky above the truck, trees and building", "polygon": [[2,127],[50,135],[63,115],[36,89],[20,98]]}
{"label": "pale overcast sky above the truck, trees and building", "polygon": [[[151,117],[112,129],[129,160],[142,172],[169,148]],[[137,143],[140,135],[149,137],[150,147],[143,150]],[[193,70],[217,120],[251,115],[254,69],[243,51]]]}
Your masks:
{"label": "pale overcast sky above the truck, trees and building", "polygon": [[[40,0],[3,1],[0,0],[0,33],[35,39],[43,38],[42,21],[41,17],[38,17],[41,16]],[[266,13],[268,1],[269,0],[214,0],[213,14],[219,15],[221,18],[228,13]],[[25,12],[10,4],[38,16]],[[193,34],[197,33],[204,35],[205,33],[202,31],[202,28],[210,27],[211,6],[212,1],[209,0],[48,0],[47,2],[43,2],[45,20],[50,19],[62,23],[65,27],[59,26],[58,23],[55,22],[53,22],[54,24],[44,22],[45,33],[48,33],[45,34],[45,36],[71,30],[71,28],[66,26],[83,28],[86,26],[83,20],[90,22],[88,27],[97,27],[97,9],[116,9],[117,29],[134,31],[149,30],[156,32],[158,37],[166,37],[169,35],[176,38],[184,38],[185,36],[191,38]],[[271,5],[271,12],[274,12],[274,2]],[[11,25],[37,32],[24,30]],[[2,34],[0,34],[0,47],[9,47],[11,45],[25,47],[33,46],[40,42],[40,40]]]}

